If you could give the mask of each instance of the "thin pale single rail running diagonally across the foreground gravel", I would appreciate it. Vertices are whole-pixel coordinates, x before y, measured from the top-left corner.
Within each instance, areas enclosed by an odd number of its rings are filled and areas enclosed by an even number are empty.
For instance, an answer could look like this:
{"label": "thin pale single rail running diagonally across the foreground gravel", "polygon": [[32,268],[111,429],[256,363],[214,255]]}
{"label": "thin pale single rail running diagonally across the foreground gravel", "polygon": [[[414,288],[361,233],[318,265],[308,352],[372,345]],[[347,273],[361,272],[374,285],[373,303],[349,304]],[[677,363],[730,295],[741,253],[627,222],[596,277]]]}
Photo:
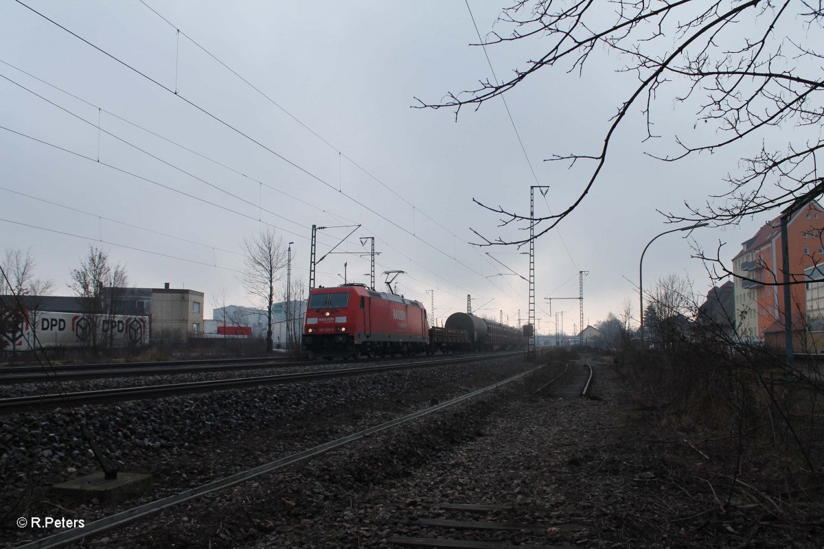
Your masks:
{"label": "thin pale single rail running diagonally across the foreground gravel", "polygon": [[485,388],[475,389],[475,391],[463,394],[460,397],[452,398],[451,400],[441,402],[440,404],[436,404],[435,406],[424,408],[423,410],[413,412],[407,416],[402,416],[391,421],[386,421],[381,425],[369,427],[368,429],[361,430],[357,433],[353,433],[352,435],[347,435],[340,439],[332,440],[325,444],[320,444],[318,446],[315,446],[314,448],[303,450],[302,452],[292,454],[285,458],[277,459],[273,462],[265,463],[264,465],[260,465],[256,468],[251,468],[247,471],[235,473],[234,475],[231,475],[229,477],[223,477],[222,479],[219,479],[217,481],[209,482],[208,484],[204,484],[203,486],[182,491],[176,495],[170,495],[161,498],[160,500],[152,501],[145,505],[139,505],[138,507],[134,507],[133,509],[126,509],[125,511],[113,514],[110,517],[106,517],[105,519],[99,519],[92,523],[88,523],[83,528],[73,528],[71,530],[57,533],[49,537],[41,538],[34,542],[26,543],[26,545],[16,547],[16,549],[53,549],[56,547],[63,547],[64,545],[68,545],[68,543],[80,541],[85,537],[91,536],[92,534],[103,533],[105,531],[124,526],[125,524],[131,523],[135,520],[143,519],[145,517],[151,516],[152,514],[156,514],[162,511],[162,509],[166,509],[173,505],[178,505],[188,500],[193,500],[194,498],[197,498],[201,495],[206,495],[209,492],[222,490],[230,486],[235,486],[236,484],[246,482],[251,478],[258,477],[267,472],[272,472],[276,469],[292,465],[293,463],[299,463],[309,458],[314,458],[318,455],[325,454],[325,452],[339,448],[339,446],[343,446],[344,444],[352,443],[355,440],[362,439],[365,436],[373,435],[379,431],[386,430],[394,426],[399,426],[407,421],[412,421],[421,416],[426,416],[430,413],[437,412],[442,408],[452,406],[458,402],[463,402],[468,398],[472,398],[476,395],[492,391],[494,389],[501,387],[502,385],[511,383],[517,379],[521,379],[523,376],[529,375],[535,370],[538,370],[542,367],[543,365],[537,366],[536,368],[527,370],[525,372],[522,372],[521,374],[514,375],[511,378],[504,379],[503,381],[499,381],[498,383],[492,385],[488,385]]}

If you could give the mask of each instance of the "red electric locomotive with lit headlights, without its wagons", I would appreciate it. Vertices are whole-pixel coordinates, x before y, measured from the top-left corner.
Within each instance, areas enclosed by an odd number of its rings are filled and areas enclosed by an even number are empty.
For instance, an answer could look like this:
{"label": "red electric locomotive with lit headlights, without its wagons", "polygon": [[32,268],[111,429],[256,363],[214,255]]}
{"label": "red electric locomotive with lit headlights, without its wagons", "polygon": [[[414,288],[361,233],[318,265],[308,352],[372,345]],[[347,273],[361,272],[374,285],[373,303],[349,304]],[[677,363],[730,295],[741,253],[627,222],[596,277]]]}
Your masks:
{"label": "red electric locomotive with lit headlights, without its wagons", "polygon": [[344,284],[309,291],[302,347],[310,356],[370,356],[426,351],[426,309],[419,301]]}

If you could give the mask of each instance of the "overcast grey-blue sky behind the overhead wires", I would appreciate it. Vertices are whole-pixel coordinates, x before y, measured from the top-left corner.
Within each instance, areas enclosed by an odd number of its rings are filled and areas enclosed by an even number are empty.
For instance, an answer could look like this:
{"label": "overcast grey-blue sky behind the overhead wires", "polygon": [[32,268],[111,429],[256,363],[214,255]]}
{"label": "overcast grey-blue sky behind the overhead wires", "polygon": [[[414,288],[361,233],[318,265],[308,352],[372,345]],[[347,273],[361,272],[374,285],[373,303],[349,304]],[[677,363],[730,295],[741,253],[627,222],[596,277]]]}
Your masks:
{"label": "overcast grey-blue sky behind the overhead wires", "polygon": [[[221,287],[247,303],[241,243],[261,227],[294,243],[293,274],[308,281],[311,225],[359,224],[342,246],[353,254],[318,265],[319,285],[343,282],[344,262],[349,281],[368,282],[357,237],[374,236],[377,272],[407,272],[400,293],[427,307],[434,290],[440,321],[465,310],[467,294],[482,298],[480,314],[503,310],[514,325],[520,309],[526,319],[527,283],[497,276],[508,270],[486,253],[526,277],[517,252],[527,248],[467,244],[477,240],[470,227],[502,234],[498,216],[471,199],[527,215],[529,187],[541,184],[550,190],[536,194],[536,214],[567,207],[588,174],[544,159],[597,147],[634,83],[614,72],[620,60],[598,53],[580,77],[546,72],[514,89],[506,99],[530,167],[501,100],[464,109],[457,122],[448,109],[410,108],[414,97],[437,102],[491,77],[483,50],[469,45],[478,39],[463,0],[24,2],[134,70],[21,3],[0,2],[0,247],[30,249],[40,276],[68,295],[69,272],[99,246],[125,263],[133,286],[203,291],[207,316]],[[469,3],[480,32],[491,30],[503,3]],[[504,77],[542,51],[535,41],[488,53]],[[691,124],[676,113],[662,98],[659,120]],[[735,151],[664,164],[643,155],[644,131],[634,109],[592,193],[536,244],[542,332],[554,331],[558,310],[568,333],[578,323],[576,301],[554,302],[550,318],[542,299],[577,297],[578,271],[589,272],[586,323],[618,314],[624,300],[637,309],[641,250],[672,228],[656,210],[726,188]],[[692,236],[709,250],[727,243],[732,258],[764,221]],[[348,231],[321,231],[319,256]],[[690,256],[681,233],[662,237],[644,259],[645,286],[674,273],[705,294],[705,268]]]}

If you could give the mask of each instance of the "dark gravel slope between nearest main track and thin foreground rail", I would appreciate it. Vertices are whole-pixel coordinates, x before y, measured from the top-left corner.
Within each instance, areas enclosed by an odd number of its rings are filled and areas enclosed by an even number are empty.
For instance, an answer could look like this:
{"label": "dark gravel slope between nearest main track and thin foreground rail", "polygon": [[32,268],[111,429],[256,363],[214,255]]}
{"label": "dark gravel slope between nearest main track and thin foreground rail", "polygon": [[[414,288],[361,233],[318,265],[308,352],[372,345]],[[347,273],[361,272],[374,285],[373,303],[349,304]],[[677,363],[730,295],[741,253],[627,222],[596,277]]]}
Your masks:
{"label": "dark gravel slope between nearest main track and thin foreground rail", "polygon": [[[432,398],[450,398],[524,367],[520,361],[496,362],[81,407],[75,413],[121,470],[152,472],[156,490],[144,498],[152,500],[376,425],[426,407]],[[116,510],[71,505],[49,495],[52,483],[97,470],[69,412],[3,417],[0,547],[30,538],[15,528],[19,516],[54,514],[54,505],[65,508],[68,518],[87,520]]]}

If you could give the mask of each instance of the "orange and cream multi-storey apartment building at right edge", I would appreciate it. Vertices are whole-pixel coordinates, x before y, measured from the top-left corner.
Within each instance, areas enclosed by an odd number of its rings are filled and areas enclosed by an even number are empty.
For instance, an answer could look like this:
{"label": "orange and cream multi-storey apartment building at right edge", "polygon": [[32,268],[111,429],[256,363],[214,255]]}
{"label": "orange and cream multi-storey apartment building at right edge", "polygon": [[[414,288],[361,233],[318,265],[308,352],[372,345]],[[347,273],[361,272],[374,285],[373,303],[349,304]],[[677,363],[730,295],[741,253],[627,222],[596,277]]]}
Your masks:
{"label": "orange and cream multi-storey apartment building at right edge", "polygon": [[[824,208],[812,201],[792,216],[787,226],[789,272],[803,280],[804,271],[824,262]],[[735,319],[737,332],[750,340],[764,341],[767,328],[784,325],[784,288],[769,286],[781,282],[784,260],[781,254],[781,217],[766,223],[742,243],[733,258],[735,277]],[[751,281],[739,277],[750,278]],[[794,319],[803,318],[807,310],[805,285],[790,286],[790,303]],[[798,317],[796,317],[798,315]]]}

